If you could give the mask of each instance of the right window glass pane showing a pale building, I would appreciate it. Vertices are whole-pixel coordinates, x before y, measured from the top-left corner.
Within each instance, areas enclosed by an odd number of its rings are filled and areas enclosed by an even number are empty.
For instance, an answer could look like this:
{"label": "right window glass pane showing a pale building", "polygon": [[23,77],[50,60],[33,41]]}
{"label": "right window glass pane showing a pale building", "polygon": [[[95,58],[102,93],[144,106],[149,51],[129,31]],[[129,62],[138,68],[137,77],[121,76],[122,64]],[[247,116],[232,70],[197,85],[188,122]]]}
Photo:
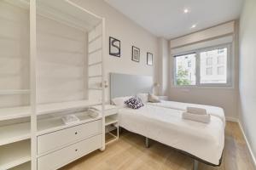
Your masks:
{"label": "right window glass pane showing a pale building", "polygon": [[[227,48],[219,48],[200,53],[200,83],[227,83]],[[208,59],[212,59],[209,67]]]}

